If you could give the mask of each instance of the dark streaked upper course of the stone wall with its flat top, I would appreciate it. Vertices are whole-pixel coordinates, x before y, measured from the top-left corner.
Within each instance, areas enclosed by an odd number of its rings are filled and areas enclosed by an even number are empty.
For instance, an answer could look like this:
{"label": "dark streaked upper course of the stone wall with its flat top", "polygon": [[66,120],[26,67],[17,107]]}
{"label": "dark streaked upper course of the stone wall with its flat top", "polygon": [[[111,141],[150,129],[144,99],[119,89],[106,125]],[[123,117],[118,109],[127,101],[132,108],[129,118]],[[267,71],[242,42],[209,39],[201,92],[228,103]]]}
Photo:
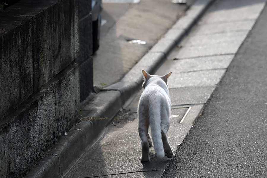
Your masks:
{"label": "dark streaked upper course of the stone wall with its flat top", "polygon": [[0,120],[74,60],[75,4],[22,0],[1,12]]}

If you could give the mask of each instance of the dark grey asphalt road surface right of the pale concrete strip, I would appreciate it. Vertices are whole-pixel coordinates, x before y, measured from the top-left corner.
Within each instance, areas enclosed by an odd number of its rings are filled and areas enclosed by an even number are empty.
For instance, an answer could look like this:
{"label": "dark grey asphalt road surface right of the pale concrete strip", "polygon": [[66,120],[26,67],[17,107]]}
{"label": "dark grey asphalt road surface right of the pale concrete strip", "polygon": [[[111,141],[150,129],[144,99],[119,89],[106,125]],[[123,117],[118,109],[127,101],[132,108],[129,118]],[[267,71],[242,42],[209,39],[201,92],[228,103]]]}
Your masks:
{"label": "dark grey asphalt road surface right of the pale concrete strip", "polygon": [[166,177],[266,177],[267,7],[168,168]]}

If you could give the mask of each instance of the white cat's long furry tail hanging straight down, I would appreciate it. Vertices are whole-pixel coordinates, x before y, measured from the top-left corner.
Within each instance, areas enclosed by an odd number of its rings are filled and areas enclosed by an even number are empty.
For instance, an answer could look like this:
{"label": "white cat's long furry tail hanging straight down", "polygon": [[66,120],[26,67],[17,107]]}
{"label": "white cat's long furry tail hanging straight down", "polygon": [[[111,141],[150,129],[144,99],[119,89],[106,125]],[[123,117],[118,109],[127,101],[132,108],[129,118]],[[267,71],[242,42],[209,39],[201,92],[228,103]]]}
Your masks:
{"label": "white cat's long furry tail hanging straight down", "polygon": [[149,97],[149,122],[151,127],[152,141],[154,144],[154,149],[156,151],[156,155],[159,158],[164,157],[164,149],[161,138],[161,119],[160,119],[160,103],[161,100],[159,97],[155,95],[150,95]]}

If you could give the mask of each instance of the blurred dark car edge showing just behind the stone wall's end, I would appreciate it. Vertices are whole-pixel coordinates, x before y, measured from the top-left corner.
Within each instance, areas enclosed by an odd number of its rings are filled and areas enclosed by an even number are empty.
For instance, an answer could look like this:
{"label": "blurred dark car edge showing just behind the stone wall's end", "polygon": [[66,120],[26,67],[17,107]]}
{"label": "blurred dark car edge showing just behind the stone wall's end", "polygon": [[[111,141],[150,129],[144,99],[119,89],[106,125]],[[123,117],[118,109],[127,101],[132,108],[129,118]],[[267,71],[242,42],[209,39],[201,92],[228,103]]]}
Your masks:
{"label": "blurred dark car edge showing just behind the stone wall's end", "polygon": [[102,9],[102,0],[92,0],[93,53],[99,48]]}

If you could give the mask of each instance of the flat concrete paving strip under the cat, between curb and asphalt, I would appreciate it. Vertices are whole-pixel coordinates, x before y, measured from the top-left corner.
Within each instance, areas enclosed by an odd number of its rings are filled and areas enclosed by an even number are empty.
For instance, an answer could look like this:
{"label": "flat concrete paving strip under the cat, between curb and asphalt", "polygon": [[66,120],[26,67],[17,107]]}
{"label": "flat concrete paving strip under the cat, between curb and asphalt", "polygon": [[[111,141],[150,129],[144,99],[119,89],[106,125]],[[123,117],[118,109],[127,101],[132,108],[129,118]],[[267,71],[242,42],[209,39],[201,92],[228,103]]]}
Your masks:
{"label": "flat concrete paving strip under the cat, between curb and asphalt", "polygon": [[[216,1],[155,73],[163,75],[173,72],[168,81],[172,99],[168,137],[175,152],[225,74],[265,3],[266,1]],[[190,14],[179,20],[166,36],[171,31],[183,28],[188,20]],[[160,52],[158,49],[154,46],[150,52]],[[139,69],[140,74],[136,74],[142,77],[141,69],[145,66],[139,64],[134,68]],[[150,148],[149,162],[141,163],[139,160],[141,143],[137,130],[138,120],[135,118],[140,94],[115,117],[107,127],[106,134],[78,160],[66,178],[162,176],[170,160],[156,158],[153,147]],[[188,114],[185,115],[187,111]],[[177,170],[175,165],[171,168],[174,172]]]}

